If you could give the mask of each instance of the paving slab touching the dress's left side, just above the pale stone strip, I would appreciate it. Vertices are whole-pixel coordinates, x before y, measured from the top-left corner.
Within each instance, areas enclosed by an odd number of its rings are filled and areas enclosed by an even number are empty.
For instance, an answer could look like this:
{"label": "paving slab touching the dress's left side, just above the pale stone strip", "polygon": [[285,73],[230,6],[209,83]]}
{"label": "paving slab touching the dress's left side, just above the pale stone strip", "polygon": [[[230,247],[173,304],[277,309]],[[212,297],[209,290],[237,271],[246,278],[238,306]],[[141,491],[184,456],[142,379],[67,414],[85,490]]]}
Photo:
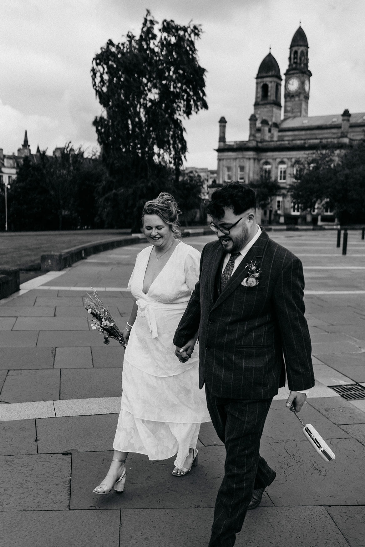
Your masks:
{"label": "paving slab touching the dress's left side, just above the pale stone strip", "polygon": [[90,399],[120,397],[120,395],[120,368],[61,370],[60,399]]}

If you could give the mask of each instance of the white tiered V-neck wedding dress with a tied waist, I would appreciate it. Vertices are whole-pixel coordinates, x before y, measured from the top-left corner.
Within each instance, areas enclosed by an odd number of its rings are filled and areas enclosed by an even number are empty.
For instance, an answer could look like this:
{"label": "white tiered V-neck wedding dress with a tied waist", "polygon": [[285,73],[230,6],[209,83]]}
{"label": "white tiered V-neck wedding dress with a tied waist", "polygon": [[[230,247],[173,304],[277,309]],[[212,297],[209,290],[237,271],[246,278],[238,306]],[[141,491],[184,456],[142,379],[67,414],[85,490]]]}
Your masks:
{"label": "white tiered V-neck wedding dress with a tied waist", "polygon": [[153,246],[143,249],[128,287],[137,300],[136,321],[125,351],[121,411],[114,450],[167,459],[183,467],[195,448],[201,422],[210,421],[205,391],[198,385],[198,351],[180,363],[172,343],[199,277],[200,253],[182,241],[144,294]]}

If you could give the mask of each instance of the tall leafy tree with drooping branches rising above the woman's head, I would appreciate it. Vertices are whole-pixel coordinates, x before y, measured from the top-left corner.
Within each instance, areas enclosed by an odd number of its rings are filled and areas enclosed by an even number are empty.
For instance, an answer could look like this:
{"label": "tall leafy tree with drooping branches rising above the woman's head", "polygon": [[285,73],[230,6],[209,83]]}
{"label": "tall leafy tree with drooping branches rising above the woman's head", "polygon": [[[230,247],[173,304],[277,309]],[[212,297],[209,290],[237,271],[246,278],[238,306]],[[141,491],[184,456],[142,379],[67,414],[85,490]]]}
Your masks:
{"label": "tall leafy tree with drooping branches rising above the woman's head", "polygon": [[113,223],[115,200],[124,206],[119,218],[124,214],[134,225],[144,201],[169,191],[160,182],[171,170],[178,183],[187,152],[183,120],[207,108],[195,46],[201,27],[157,25],[147,11],[139,37],[129,32],[120,43],[108,40],[92,63],[92,85],[104,109],[93,123],[109,173],[101,202]]}

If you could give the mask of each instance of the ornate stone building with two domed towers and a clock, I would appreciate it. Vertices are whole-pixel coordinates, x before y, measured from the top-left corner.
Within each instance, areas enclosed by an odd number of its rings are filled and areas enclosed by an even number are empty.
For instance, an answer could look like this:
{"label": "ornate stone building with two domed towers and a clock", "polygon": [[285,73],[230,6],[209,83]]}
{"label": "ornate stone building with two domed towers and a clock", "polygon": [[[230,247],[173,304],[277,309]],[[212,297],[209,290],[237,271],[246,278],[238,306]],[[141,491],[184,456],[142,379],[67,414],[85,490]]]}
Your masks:
{"label": "ornate stone building with two domed towers and a clock", "polygon": [[[300,210],[288,192],[301,160],[318,147],[341,149],[364,138],[365,112],[308,116],[310,95],[308,40],[299,26],[289,48],[289,62],[281,77],[275,57],[263,59],[256,75],[253,113],[249,119],[247,141],[227,141],[227,121],[219,120],[217,184],[241,181],[250,184],[260,176],[276,179],[281,191],[274,197],[262,223],[273,221],[295,224],[309,222],[311,214]],[[284,85],[282,115],[281,86]],[[320,222],[334,220],[331,204],[318,203],[312,211]]]}

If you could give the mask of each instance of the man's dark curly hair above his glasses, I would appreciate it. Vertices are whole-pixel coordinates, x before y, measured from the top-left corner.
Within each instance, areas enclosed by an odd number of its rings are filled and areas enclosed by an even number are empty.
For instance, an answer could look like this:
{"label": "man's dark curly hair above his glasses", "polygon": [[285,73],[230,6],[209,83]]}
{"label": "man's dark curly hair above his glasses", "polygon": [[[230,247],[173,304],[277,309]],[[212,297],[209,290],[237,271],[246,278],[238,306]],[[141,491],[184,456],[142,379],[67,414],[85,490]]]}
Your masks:
{"label": "man's dark curly hair above his glasses", "polygon": [[256,194],[245,184],[231,182],[222,188],[217,188],[212,199],[206,206],[206,212],[212,218],[224,217],[224,209],[233,210],[234,214],[241,214],[248,209],[256,209]]}

